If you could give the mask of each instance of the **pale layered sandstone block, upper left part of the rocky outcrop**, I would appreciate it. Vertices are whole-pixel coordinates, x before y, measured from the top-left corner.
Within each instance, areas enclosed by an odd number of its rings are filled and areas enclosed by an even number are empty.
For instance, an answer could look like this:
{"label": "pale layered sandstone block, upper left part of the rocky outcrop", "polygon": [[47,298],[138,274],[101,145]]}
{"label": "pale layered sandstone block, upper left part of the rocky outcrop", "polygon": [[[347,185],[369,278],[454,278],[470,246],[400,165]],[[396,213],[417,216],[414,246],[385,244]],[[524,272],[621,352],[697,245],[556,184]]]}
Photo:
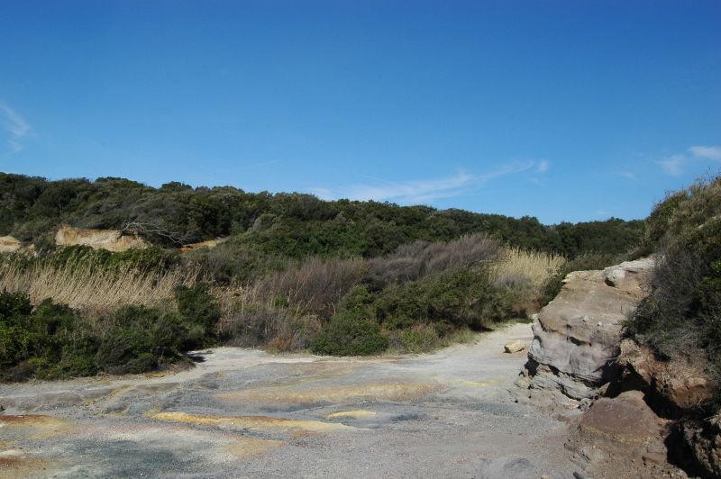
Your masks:
{"label": "pale layered sandstone block, upper left part of the rocky outcrop", "polygon": [[648,294],[653,266],[645,258],[566,276],[534,321],[525,384],[573,399],[597,395],[616,374],[622,323]]}

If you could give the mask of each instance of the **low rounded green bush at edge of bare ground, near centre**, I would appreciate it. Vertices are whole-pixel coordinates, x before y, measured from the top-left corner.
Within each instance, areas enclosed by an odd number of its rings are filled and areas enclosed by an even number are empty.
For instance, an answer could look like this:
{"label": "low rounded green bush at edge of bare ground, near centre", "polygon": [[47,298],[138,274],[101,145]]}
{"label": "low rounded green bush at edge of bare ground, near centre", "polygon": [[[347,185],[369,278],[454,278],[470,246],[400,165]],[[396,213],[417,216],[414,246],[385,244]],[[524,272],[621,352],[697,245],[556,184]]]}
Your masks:
{"label": "low rounded green bush at edge of bare ground, near centre", "polygon": [[369,356],[388,348],[379,324],[359,312],[335,314],[311,341],[311,351],[329,356]]}

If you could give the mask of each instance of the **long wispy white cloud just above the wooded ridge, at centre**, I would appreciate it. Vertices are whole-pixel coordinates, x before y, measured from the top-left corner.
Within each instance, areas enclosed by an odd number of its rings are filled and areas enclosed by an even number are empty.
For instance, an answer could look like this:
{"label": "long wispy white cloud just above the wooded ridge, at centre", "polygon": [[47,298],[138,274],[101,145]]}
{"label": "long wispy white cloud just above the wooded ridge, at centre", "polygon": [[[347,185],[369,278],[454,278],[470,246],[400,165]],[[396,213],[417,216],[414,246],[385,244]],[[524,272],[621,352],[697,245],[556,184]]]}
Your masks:
{"label": "long wispy white cloud just above the wooded ridge, at centre", "polygon": [[521,173],[538,167],[534,161],[507,165],[483,175],[472,175],[459,171],[451,176],[424,180],[384,181],[376,178],[374,184],[357,184],[331,189],[316,187],[310,190],[319,198],[334,200],[350,198],[352,200],[390,201],[401,204],[431,203],[436,199],[463,196],[476,192],[493,178]]}

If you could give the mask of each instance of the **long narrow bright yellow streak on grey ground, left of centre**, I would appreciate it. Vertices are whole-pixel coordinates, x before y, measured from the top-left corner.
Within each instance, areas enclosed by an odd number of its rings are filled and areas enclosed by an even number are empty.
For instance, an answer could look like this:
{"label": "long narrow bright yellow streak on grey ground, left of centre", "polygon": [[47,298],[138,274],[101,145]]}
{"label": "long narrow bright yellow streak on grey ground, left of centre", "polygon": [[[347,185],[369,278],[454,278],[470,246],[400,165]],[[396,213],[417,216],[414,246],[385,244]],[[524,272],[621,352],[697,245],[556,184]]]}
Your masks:
{"label": "long narrow bright yellow streak on grey ground, left of centre", "polygon": [[169,422],[186,422],[202,426],[214,426],[221,429],[242,429],[253,432],[283,430],[287,432],[331,432],[337,430],[353,430],[351,426],[320,420],[290,420],[271,418],[269,416],[210,416],[205,414],[188,414],[187,412],[156,412],[150,414],[154,420]]}

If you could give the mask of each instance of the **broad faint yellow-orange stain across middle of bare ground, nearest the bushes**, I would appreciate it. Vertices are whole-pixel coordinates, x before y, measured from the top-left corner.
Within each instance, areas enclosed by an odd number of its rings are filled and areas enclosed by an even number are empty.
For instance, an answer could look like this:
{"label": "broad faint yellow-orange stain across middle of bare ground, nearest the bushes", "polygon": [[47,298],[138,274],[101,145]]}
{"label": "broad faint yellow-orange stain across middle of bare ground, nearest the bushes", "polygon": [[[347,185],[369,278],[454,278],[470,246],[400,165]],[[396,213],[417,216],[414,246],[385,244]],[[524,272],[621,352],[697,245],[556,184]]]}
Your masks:
{"label": "broad faint yellow-orange stain across middle of bare ground, nearest the bushes", "polygon": [[431,393],[438,387],[438,384],[428,383],[387,382],[306,387],[298,390],[297,386],[278,385],[234,393],[220,393],[215,397],[226,402],[244,400],[279,404],[408,401]]}

